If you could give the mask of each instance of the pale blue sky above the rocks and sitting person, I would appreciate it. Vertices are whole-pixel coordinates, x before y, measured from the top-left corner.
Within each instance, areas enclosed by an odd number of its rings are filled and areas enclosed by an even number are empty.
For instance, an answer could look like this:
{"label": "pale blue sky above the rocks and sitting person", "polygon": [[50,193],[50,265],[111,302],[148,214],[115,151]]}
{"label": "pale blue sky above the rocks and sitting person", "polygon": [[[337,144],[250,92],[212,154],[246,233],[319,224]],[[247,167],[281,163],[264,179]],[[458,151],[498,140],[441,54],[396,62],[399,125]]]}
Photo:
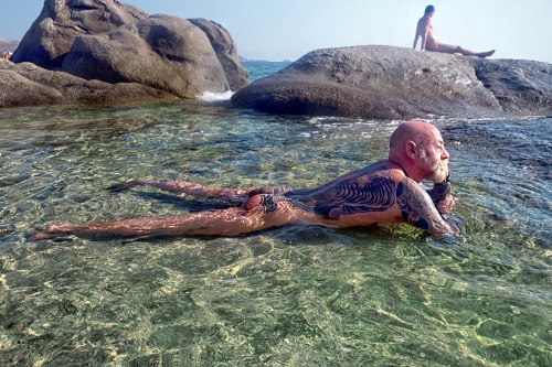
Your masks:
{"label": "pale blue sky above the rocks and sitting person", "polygon": [[[429,1],[429,2],[428,2]],[[295,61],[309,51],[360,44],[412,47],[428,3],[442,42],[493,58],[552,63],[552,0],[127,0],[150,14],[205,18],[224,25],[247,58]],[[21,40],[43,0],[1,0],[0,37]]]}

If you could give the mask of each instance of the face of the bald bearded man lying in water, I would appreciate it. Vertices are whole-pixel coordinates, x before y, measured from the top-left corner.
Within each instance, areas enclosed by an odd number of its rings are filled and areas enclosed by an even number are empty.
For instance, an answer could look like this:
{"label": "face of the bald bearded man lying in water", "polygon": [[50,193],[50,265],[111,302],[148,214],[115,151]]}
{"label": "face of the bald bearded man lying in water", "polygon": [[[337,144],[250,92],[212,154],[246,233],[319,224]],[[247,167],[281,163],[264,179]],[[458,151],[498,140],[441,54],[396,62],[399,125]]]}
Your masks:
{"label": "face of the bald bearded man lying in water", "polygon": [[424,177],[433,182],[443,182],[448,173],[448,152],[437,129],[428,131],[427,139],[420,144],[420,168]]}

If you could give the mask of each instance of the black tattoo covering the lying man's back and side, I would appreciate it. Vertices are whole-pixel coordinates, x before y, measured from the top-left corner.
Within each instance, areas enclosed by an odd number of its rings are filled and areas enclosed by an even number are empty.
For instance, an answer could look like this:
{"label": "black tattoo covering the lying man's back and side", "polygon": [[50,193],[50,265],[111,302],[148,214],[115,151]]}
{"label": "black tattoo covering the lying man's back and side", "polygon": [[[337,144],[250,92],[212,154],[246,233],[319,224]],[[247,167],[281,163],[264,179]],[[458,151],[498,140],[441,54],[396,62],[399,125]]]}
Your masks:
{"label": "black tattoo covering the lying man's back and side", "polygon": [[314,190],[298,190],[285,194],[293,205],[314,211],[325,219],[341,215],[385,212],[394,204],[395,183],[389,172],[362,174],[331,182]]}

